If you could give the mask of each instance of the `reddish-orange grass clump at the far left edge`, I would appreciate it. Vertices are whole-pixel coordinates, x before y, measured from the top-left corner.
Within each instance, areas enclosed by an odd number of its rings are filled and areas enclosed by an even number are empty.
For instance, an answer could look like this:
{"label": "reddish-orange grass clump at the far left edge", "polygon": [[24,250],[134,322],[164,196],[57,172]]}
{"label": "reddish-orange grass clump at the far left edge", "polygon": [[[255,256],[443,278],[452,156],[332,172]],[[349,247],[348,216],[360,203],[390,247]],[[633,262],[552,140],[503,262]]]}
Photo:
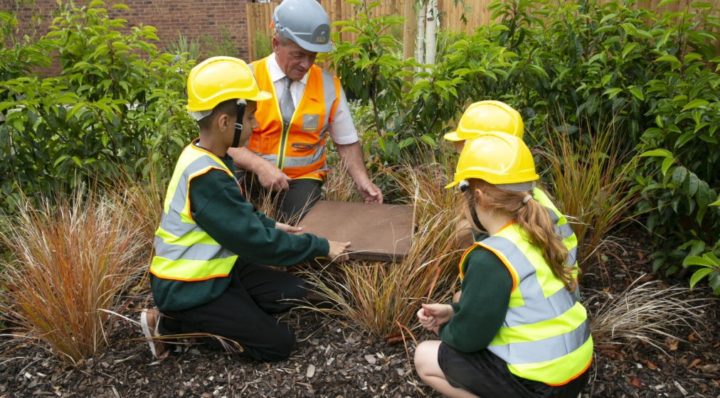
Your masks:
{"label": "reddish-orange grass clump at the far left edge", "polygon": [[139,224],[122,202],[93,191],[32,205],[5,220],[0,313],[58,359],[76,364],[107,345],[117,294],[138,273]]}

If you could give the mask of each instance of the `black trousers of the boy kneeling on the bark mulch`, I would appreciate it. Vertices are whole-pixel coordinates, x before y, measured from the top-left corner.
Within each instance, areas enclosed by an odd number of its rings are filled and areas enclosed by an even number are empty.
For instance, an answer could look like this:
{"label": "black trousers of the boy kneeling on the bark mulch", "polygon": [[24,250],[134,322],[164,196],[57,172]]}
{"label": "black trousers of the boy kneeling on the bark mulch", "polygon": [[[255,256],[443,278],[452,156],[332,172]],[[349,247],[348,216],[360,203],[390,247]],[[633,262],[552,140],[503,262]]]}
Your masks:
{"label": "black trousers of the boy kneeling on the bark mulch", "polygon": [[[164,311],[166,317],[161,318],[160,334],[210,333],[238,343],[243,348],[241,356],[264,362],[287,358],[295,335],[270,314],[293,306],[283,299],[305,299],[305,283],[287,272],[240,259],[230,278],[228,290],[212,302],[182,311]],[[225,348],[217,338],[201,340],[215,348]]]}

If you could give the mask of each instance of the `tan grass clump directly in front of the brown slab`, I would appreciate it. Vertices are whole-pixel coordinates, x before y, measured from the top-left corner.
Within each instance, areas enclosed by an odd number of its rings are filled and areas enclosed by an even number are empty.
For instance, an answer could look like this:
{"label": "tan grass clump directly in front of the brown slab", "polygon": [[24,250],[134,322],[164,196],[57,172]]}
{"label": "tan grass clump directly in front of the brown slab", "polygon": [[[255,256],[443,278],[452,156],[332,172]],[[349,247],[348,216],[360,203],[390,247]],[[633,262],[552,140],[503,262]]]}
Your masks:
{"label": "tan grass clump directly in front of the brown slab", "polygon": [[[353,261],[337,272],[305,269],[310,289],[333,304],[333,312],[346,315],[361,329],[379,338],[418,325],[414,315],[420,303],[444,302],[457,288],[459,250],[456,223],[462,202],[450,181],[450,158],[430,155],[423,166],[387,169],[405,202],[415,207],[415,234],[410,254],[402,263]],[[334,191],[328,186],[328,191]],[[352,247],[351,247],[352,248]]]}

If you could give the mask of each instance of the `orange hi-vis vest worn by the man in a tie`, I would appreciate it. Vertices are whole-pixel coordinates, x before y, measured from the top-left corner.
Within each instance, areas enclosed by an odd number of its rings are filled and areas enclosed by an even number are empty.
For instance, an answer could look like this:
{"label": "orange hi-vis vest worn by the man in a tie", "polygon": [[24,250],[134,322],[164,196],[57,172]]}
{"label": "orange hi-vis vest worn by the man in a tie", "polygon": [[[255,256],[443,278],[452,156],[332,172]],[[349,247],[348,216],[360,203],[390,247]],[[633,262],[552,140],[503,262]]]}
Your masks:
{"label": "orange hi-vis vest worn by the man in a tie", "polygon": [[248,149],[273,163],[290,178],[322,180],[325,165],[325,135],[340,99],[340,81],[312,65],[290,125],[284,126],[276,93],[268,71],[267,58],[251,63],[262,91],[273,94],[271,101],[258,101],[255,118],[258,128],[248,140]]}

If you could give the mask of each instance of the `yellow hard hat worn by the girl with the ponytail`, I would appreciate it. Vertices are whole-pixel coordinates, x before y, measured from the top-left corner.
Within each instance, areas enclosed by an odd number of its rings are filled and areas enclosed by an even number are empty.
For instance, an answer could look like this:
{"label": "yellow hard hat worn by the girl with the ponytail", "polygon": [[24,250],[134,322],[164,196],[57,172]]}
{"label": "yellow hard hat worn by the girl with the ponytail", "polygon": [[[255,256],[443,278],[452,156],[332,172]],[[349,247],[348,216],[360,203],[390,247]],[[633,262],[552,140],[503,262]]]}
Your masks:
{"label": "yellow hard hat worn by the girl with the ponytail", "polygon": [[540,178],[523,140],[504,132],[487,132],[469,140],[457,160],[456,186],[468,178],[480,178],[509,191],[531,191]]}

